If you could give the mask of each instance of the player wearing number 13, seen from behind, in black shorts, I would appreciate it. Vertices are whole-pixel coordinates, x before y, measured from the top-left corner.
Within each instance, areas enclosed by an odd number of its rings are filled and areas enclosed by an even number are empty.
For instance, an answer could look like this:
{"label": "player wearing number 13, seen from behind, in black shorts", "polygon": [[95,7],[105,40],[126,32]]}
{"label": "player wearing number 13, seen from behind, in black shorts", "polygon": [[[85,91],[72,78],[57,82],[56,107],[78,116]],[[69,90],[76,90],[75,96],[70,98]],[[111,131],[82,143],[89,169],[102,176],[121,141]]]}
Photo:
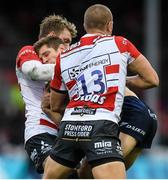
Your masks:
{"label": "player wearing number 13, seen from behind, in black shorts", "polygon": [[[87,34],[57,58],[50,84],[51,110],[58,114],[58,120],[63,117],[58,140],[46,162],[45,179],[64,178],[85,155],[94,178],[126,177],[118,122],[127,67],[139,75],[128,80],[131,85],[154,87],[158,79],[130,41],[111,36],[112,24],[106,6],[89,7],[84,17]],[[151,77],[146,77],[148,74]],[[67,92],[70,102],[62,114]]]}

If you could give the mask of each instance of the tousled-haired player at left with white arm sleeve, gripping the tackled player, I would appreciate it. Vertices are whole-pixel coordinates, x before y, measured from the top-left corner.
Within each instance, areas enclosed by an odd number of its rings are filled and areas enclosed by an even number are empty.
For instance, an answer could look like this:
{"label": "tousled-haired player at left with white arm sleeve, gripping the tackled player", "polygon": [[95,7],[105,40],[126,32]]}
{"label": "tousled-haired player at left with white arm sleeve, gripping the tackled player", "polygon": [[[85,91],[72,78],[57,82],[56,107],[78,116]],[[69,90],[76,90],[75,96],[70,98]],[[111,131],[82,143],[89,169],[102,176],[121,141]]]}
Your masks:
{"label": "tousled-haired player at left with white arm sleeve, gripping the tackled player", "polygon": [[[46,17],[40,25],[39,38],[46,35],[58,36],[66,47],[75,37],[74,24],[59,15]],[[63,44],[59,38],[55,50],[59,53]],[[49,56],[46,52],[44,56]],[[25,102],[25,149],[33,161],[37,172],[43,172],[45,159],[55,141],[58,127],[41,110],[41,98],[45,89],[45,82],[51,80],[55,59],[52,62],[43,61],[37,56],[33,46],[24,46],[18,53],[16,60],[16,74]]]}

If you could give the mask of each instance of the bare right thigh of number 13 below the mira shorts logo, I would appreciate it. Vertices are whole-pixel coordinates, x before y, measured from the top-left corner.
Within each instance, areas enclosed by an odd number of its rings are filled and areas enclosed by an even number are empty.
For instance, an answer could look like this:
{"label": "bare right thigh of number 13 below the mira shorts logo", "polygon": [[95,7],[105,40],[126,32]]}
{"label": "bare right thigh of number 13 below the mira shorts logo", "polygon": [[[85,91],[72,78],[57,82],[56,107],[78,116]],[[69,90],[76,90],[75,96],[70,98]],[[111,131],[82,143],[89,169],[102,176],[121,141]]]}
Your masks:
{"label": "bare right thigh of number 13 below the mira shorts logo", "polygon": [[121,161],[113,161],[92,169],[95,179],[125,179],[125,165]]}

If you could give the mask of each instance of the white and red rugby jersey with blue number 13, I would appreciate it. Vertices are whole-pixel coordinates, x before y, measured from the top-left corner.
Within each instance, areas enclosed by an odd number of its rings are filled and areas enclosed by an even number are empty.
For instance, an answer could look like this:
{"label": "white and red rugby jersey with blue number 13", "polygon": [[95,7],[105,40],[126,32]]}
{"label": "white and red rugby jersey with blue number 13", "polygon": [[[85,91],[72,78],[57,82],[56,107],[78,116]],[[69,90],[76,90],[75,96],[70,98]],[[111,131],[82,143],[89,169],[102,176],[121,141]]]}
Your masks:
{"label": "white and red rugby jersey with blue number 13", "polygon": [[118,123],[127,65],[140,52],[120,36],[86,34],[57,58],[51,88],[68,91],[62,121],[111,120]]}

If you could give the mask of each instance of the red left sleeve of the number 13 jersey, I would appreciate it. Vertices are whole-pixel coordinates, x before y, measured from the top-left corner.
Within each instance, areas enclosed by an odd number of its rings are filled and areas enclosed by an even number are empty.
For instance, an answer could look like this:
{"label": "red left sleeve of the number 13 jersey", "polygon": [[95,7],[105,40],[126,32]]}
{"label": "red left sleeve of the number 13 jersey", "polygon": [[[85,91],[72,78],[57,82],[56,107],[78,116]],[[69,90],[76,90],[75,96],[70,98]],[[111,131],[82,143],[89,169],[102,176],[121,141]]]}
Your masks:
{"label": "red left sleeve of the number 13 jersey", "polygon": [[61,85],[62,85],[62,77],[61,77],[60,55],[59,55],[56,59],[54,77],[50,82],[50,87],[54,90],[61,90]]}

